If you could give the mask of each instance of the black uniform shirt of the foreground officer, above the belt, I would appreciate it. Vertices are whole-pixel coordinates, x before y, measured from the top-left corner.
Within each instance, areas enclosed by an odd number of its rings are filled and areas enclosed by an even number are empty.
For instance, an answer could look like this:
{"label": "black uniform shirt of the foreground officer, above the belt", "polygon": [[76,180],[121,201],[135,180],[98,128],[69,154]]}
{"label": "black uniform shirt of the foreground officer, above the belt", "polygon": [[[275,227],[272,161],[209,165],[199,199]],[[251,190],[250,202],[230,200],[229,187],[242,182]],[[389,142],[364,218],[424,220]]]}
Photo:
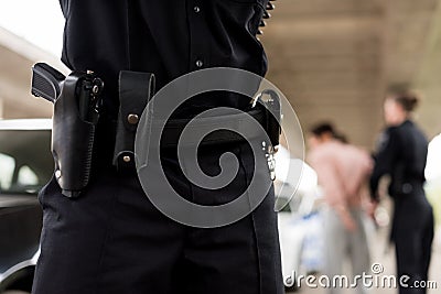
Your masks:
{"label": "black uniform shirt of the foreground officer, above the belt", "polygon": [[[121,69],[153,73],[157,89],[192,70],[236,67],[263,76],[256,37],[268,0],[60,0],[66,19],[62,61],[105,81],[105,109],[117,115]],[[244,108],[236,95],[205,106]]]}

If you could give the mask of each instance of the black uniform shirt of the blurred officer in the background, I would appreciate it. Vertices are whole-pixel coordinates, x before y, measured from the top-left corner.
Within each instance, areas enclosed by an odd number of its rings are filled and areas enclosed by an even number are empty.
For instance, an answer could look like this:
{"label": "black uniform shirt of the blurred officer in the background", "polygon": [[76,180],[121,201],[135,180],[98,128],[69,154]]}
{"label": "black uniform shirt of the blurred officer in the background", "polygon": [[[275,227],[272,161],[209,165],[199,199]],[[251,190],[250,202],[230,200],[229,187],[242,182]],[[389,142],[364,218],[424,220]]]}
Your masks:
{"label": "black uniform shirt of the blurred officer in the background", "polygon": [[391,196],[410,193],[411,185],[422,185],[427,154],[428,141],[410,120],[386,129],[379,141],[370,178],[373,198],[378,199],[378,182],[386,174],[391,177],[389,185]]}

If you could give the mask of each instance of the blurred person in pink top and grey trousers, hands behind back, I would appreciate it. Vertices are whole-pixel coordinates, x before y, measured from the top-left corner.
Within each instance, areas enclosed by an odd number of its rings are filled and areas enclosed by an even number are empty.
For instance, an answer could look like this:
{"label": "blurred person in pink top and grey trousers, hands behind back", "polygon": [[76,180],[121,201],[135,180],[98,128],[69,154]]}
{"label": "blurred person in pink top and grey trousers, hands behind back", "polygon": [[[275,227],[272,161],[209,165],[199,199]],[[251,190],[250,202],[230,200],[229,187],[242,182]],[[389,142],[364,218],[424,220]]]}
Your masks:
{"label": "blurred person in pink top and grey trousers, hands behind back", "polygon": [[[308,162],[318,173],[325,203],[324,272],[331,281],[343,274],[343,261],[348,255],[353,275],[363,275],[369,268],[369,248],[362,200],[368,196],[373,160],[364,150],[340,140],[329,123],[311,130],[309,146]],[[332,287],[329,293],[340,291]],[[365,293],[365,288],[358,285],[357,293]]]}

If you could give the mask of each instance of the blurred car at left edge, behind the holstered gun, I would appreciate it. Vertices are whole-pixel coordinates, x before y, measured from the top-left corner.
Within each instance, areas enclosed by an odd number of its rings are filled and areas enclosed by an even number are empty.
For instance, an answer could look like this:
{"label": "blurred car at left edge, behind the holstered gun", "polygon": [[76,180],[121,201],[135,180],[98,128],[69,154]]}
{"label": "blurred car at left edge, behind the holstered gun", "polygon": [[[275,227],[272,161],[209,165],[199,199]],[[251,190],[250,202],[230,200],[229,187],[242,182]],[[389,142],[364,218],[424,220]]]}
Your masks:
{"label": "blurred car at left edge, behind the holstered gun", "polygon": [[0,120],[0,293],[31,293],[49,181],[51,120]]}

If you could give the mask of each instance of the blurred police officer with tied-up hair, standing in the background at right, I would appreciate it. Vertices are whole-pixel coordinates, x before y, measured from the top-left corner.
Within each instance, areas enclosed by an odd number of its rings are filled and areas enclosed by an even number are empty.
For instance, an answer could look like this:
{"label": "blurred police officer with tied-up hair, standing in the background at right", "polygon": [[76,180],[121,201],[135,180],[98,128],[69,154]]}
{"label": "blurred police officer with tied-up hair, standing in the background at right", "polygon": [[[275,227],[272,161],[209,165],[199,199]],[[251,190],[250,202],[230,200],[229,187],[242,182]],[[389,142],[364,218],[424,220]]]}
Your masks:
{"label": "blurred police officer with tied-up hair, standing in the background at right", "polygon": [[[428,141],[410,120],[417,107],[415,95],[392,95],[385,101],[384,131],[370,181],[372,195],[379,200],[378,182],[390,175],[389,195],[395,211],[391,239],[396,244],[398,277],[408,275],[399,293],[426,293],[416,281],[428,281],[428,270],[433,239],[432,207],[423,189]],[[406,287],[406,284],[408,287]]]}

